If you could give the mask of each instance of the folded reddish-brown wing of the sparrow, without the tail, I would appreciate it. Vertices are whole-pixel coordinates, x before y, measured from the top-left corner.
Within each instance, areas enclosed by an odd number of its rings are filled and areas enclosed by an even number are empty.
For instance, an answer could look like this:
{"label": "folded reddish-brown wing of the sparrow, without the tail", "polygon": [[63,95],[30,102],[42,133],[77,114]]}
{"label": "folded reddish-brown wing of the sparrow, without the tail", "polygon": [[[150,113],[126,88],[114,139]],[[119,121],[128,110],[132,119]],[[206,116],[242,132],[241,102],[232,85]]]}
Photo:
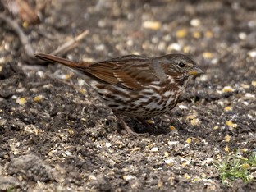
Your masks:
{"label": "folded reddish-brown wing of the sparrow, without the tail", "polygon": [[158,78],[150,57],[125,56],[90,65],[86,72],[113,85],[139,90]]}

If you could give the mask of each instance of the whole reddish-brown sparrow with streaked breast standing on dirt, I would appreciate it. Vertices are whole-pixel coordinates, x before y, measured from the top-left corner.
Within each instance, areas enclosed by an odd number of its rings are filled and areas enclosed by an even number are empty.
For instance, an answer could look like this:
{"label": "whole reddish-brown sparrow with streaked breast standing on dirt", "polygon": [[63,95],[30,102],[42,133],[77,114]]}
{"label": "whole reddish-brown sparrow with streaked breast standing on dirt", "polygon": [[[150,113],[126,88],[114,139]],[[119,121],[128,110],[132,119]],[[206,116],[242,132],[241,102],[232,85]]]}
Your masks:
{"label": "whole reddish-brown sparrow with streaked breast standing on dirt", "polygon": [[191,75],[202,74],[195,62],[184,54],[160,57],[127,55],[103,62],[71,62],[53,55],[37,53],[35,57],[68,66],[96,90],[103,102],[135,135],[121,115],[158,116],[176,106]]}

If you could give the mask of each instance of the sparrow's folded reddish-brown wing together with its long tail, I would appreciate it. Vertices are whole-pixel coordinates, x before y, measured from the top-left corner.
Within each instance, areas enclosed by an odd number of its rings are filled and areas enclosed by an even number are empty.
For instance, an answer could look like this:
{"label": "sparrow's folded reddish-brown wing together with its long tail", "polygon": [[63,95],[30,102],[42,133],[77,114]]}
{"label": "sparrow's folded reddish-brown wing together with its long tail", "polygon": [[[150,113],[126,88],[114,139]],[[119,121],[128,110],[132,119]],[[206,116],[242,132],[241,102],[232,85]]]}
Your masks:
{"label": "sparrow's folded reddish-brown wing together with its long tail", "polygon": [[127,89],[140,90],[153,80],[158,80],[151,57],[127,55],[96,63],[71,62],[61,57],[43,53],[37,53],[35,57],[48,62],[61,63],[92,78],[103,80],[112,85],[125,86]]}

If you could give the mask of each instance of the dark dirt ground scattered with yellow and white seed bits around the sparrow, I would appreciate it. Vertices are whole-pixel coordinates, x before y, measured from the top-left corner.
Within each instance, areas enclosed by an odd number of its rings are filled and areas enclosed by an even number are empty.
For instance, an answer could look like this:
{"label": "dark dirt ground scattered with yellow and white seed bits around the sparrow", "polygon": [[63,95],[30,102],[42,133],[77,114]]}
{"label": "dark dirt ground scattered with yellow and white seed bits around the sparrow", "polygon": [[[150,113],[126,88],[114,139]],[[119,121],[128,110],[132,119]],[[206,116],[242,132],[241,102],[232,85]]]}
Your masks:
{"label": "dark dirt ground scattered with yellow and white seed bits around the sparrow", "polygon": [[223,184],[213,165],[256,149],[256,2],[49,2],[39,24],[16,19],[35,52],[52,53],[89,30],[63,57],[188,53],[205,74],[171,114],[152,119],[161,133],[126,135],[71,71],[27,62],[0,21],[1,191],[256,191],[255,178]]}

